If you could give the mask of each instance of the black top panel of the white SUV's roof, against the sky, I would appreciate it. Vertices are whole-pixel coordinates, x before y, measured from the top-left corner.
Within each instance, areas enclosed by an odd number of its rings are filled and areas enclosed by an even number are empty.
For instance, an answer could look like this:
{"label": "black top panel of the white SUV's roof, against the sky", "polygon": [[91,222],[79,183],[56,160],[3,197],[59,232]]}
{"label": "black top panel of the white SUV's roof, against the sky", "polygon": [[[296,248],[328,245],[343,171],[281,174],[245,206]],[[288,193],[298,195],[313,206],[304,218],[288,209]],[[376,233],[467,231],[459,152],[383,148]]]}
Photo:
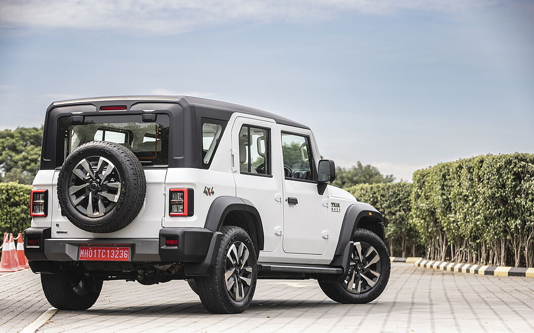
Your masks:
{"label": "black top panel of the white SUV's roof, against the sky", "polygon": [[[254,115],[258,117],[270,118],[276,121],[278,124],[295,126],[300,128],[307,128],[303,124],[297,123],[296,121],[275,115],[274,113],[245,107],[244,105],[215,101],[205,98],[192,97],[192,96],[159,96],[159,95],[135,95],[135,96],[105,96],[105,97],[93,97],[93,98],[82,98],[82,99],[72,99],[65,101],[57,101],[50,104],[48,110],[51,110],[54,107],[69,105],[69,104],[91,104],[93,102],[119,102],[119,101],[129,101],[129,102],[178,102],[182,104],[185,108],[187,105],[202,105],[203,107],[208,108],[217,108],[216,112],[228,112],[231,116],[231,113],[241,112],[248,115]],[[230,118],[227,117],[227,118]]]}

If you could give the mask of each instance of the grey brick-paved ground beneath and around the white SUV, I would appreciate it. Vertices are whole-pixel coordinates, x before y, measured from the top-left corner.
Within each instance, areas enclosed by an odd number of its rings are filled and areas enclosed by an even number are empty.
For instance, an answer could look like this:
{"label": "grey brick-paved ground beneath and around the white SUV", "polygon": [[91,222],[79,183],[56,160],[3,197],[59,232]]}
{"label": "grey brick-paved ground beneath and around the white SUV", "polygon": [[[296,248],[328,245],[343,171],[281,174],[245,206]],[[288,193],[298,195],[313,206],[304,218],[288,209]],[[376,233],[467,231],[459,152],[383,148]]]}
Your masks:
{"label": "grey brick-paved ground beneath and around the white SUV", "polygon": [[[3,279],[26,286],[31,300],[5,297]],[[12,303],[10,330],[22,318],[45,311],[40,283],[26,272],[0,278],[2,305]],[[11,289],[11,288],[10,288]],[[25,290],[26,290],[25,289]],[[23,306],[18,305],[22,302]],[[29,304],[32,305],[29,305]],[[17,305],[15,305],[17,304]],[[4,310],[2,310],[4,311]],[[15,312],[21,312],[15,315]],[[4,312],[0,312],[4,321]],[[32,320],[33,320],[32,319]],[[28,319],[29,320],[29,319]],[[213,315],[183,281],[156,286],[109,281],[88,311],[58,311],[40,331],[534,331],[534,279],[499,278],[392,264],[386,291],[371,304],[329,300],[316,281],[260,280],[252,306],[243,314]]]}

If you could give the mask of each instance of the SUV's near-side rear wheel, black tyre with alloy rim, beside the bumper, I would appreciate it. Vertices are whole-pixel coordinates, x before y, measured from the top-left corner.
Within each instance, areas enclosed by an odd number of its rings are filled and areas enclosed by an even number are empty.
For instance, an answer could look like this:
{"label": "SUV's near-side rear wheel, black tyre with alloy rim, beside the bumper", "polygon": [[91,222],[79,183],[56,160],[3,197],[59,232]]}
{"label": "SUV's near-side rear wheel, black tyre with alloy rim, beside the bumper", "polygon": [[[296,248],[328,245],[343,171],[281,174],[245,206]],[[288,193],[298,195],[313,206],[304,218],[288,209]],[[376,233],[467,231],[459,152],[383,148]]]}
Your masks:
{"label": "SUV's near-side rear wheel, black tyre with alloy rim, beside the bumper", "polygon": [[[195,278],[197,291],[209,312],[241,313],[252,302],[256,290],[256,252],[245,230],[232,225],[223,226],[221,232],[223,239],[215,266],[207,277]],[[225,273],[229,273],[228,280]],[[227,288],[227,281],[230,288]]]}

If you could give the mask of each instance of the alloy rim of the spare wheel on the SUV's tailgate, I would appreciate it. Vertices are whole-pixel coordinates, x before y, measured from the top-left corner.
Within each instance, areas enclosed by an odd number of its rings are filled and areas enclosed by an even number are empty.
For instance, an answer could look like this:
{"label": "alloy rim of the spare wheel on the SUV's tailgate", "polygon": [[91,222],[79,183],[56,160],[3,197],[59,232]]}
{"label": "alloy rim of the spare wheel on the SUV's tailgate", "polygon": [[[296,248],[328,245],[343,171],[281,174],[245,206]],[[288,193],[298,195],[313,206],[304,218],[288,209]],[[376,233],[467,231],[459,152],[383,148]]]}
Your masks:
{"label": "alloy rim of the spare wheel on the SUV's tailgate", "polygon": [[121,195],[121,177],[115,165],[101,156],[82,159],[68,182],[70,202],[88,217],[103,216],[115,207]]}

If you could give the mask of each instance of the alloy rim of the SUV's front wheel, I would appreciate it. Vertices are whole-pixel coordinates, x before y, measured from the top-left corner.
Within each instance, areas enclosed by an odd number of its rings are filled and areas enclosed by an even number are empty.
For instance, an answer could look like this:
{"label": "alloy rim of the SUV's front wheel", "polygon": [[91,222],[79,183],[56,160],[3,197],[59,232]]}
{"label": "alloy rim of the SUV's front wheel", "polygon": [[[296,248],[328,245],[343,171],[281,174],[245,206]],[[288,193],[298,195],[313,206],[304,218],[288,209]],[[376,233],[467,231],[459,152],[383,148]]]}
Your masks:
{"label": "alloy rim of the SUV's front wheel", "polygon": [[355,242],[344,286],[354,294],[366,293],[378,282],[381,269],[378,251],[366,242]]}

